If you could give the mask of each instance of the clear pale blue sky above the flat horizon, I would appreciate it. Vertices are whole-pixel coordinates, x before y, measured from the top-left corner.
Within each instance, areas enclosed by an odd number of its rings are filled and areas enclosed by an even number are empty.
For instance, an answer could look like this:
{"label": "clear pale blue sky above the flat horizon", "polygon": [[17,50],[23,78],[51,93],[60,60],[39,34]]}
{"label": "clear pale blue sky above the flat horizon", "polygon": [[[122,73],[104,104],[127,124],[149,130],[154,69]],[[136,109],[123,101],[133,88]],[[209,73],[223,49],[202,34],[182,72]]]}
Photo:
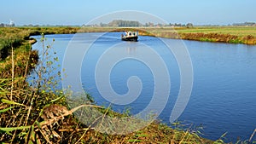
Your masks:
{"label": "clear pale blue sky above the flat horizon", "polygon": [[138,10],[169,23],[226,25],[256,22],[255,8],[255,0],[3,0],[0,23],[82,25],[102,14]]}

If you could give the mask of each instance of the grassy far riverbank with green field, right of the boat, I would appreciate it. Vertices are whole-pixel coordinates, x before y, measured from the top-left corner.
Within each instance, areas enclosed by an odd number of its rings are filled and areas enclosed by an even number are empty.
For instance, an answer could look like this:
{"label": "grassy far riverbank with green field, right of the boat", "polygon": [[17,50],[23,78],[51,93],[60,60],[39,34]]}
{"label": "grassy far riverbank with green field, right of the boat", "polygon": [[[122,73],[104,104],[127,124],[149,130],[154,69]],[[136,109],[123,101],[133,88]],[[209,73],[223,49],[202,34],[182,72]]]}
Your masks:
{"label": "grassy far riverbank with green field, right of the boat", "polygon": [[182,38],[187,40],[256,44],[256,26],[220,26],[220,27],[170,27],[146,28],[156,37]]}

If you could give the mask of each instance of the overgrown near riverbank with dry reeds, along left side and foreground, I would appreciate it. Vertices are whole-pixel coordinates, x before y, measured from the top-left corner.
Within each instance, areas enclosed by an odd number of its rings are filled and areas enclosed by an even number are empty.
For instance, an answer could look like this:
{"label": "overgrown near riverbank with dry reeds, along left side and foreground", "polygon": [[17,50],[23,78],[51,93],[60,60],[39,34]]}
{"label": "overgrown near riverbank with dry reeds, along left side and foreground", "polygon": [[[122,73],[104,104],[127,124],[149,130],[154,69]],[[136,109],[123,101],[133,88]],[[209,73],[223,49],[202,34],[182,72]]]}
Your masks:
{"label": "overgrown near riverbank with dry reeds, along left side and foreground", "polygon": [[[116,28],[84,28],[82,32],[123,31]],[[149,29],[152,33],[155,30]],[[144,32],[148,32],[144,31]],[[160,30],[160,29],[157,29]],[[37,28],[0,28],[0,141],[7,143],[213,143],[201,138],[197,129],[183,129],[183,124],[174,124],[173,128],[154,121],[142,130],[129,135],[108,135],[97,132],[89,125],[79,123],[73,117],[73,110],[67,106],[66,98],[54,85],[52,78],[42,78],[44,66],[35,70],[36,79],[31,87],[26,76],[35,65],[42,64],[38,52],[32,51],[29,36],[78,32],[77,27],[37,27]],[[147,34],[147,33],[146,33]],[[42,43],[44,43],[44,37]],[[43,48],[54,45],[44,43]],[[45,53],[47,54],[47,53]],[[40,55],[42,58],[44,55]],[[47,55],[46,55],[47,57]],[[41,61],[42,62],[42,61]],[[44,62],[47,62],[44,61]],[[48,64],[51,62],[48,61]],[[44,83],[41,83],[41,82]],[[90,97],[90,96],[89,96]],[[90,107],[90,106],[85,106]],[[108,108],[98,107],[105,115],[126,117],[129,113],[116,113]],[[104,118],[100,118],[104,119]],[[133,126],[133,125],[131,125]],[[220,136],[221,137],[221,136]],[[215,143],[222,143],[217,140]]]}

